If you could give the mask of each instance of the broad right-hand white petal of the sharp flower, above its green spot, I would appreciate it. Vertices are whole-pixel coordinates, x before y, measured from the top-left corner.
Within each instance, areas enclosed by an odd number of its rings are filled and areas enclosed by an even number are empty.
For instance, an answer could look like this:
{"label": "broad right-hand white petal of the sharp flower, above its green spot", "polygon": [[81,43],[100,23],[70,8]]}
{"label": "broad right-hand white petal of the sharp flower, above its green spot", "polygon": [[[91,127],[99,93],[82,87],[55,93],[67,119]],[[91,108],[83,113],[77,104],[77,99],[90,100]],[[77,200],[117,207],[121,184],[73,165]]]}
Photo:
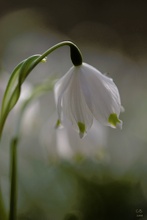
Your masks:
{"label": "broad right-hand white petal of the sharp flower, above its green spot", "polygon": [[86,103],[94,117],[105,125],[111,113],[120,114],[120,96],[113,80],[101,74],[94,67],[83,64],[81,86]]}

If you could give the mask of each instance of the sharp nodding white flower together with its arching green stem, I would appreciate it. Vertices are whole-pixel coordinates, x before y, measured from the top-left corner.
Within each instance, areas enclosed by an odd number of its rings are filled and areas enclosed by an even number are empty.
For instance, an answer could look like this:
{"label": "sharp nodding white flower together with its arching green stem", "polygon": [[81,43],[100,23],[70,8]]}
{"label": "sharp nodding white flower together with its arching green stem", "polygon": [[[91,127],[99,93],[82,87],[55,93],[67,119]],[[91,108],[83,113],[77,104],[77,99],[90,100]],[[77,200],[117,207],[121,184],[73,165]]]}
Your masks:
{"label": "sharp nodding white flower together with its arching green stem", "polygon": [[46,57],[62,46],[70,47],[73,67],[55,85],[58,111],[56,126],[62,123],[63,115],[83,137],[92,126],[93,119],[104,125],[121,127],[119,120],[121,101],[113,80],[94,67],[83,63],[79,48],[71,41],[63,41],[50,47],[42,55],[33,55],[19,63],[12,72],[2,100],[0,137],[6,119],[21,94],[21,86],[30,72]]}

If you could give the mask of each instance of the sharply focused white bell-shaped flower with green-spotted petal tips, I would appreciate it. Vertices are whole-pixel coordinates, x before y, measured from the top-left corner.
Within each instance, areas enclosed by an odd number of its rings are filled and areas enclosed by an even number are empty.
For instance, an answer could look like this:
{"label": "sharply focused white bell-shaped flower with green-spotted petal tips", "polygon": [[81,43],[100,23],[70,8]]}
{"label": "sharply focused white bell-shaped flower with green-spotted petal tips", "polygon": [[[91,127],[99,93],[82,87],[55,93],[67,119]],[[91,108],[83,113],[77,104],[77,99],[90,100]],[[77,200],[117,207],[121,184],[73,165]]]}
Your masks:
{"label": "sharply focused white bell-shaped flower with green-spotted petal tips", "polygon": [[113,128],[122,127],[119,120],[121,101],[113,80],[100,73],[93,66],[82,63],[73,66],[56,83],[58,127],[63,115],[67,117],[80,137],[92,126],[93,118]]}

